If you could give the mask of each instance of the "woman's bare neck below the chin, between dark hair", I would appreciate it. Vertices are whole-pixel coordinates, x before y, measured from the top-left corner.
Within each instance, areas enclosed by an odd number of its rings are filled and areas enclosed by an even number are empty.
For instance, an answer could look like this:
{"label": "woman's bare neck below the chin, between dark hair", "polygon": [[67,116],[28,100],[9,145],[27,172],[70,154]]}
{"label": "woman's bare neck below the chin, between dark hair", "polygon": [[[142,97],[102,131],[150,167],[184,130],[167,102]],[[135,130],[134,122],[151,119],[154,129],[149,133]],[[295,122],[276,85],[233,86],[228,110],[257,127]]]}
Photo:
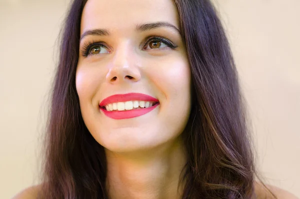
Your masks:
{"label": "woman's bare neck below the chin, between dark hair", "polygon": [[155,149],[115,153],[105,149],[106,185],[111,199],[176,199],[186,155],[179,141]]}

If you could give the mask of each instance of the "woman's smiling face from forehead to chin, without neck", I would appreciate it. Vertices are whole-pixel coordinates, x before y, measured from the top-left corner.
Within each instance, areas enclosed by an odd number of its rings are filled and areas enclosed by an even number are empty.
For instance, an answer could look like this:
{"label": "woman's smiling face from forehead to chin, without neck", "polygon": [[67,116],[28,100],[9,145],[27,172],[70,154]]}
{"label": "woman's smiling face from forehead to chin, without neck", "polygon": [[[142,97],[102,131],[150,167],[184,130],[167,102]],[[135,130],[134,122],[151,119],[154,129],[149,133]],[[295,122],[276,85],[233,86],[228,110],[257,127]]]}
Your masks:
{"label": "woman's smiling face from forehead to chin, without neck", "polygon": [[[87,1],[76,90],[84,123],[105,148],[149,149],[183,131],[190,113],[191,78],[177,29],[178,14],[171,0]],[[140,108],[151,102],[152,107]],[[132,105],[137,110],[127,110]]]}

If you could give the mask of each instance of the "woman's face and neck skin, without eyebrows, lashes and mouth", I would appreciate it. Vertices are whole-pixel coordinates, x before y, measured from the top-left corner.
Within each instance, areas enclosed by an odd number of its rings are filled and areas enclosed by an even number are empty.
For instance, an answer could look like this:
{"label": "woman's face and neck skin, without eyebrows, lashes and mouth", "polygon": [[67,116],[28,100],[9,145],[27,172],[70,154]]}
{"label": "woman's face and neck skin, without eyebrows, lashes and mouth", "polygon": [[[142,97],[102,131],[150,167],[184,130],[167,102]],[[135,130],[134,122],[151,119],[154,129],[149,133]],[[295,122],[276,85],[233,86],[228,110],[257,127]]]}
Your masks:
{"label": "woman's face and neck skin, without eyebrows, lashes and mouth", "polygon": [[[80,41],[76,90],[85,125],[105,148],[111,198],[181,196],[177,186],[186,155],[180,134],[190,113],[190,69],[176,30],[135,31],[137,25],[156,22],[179,29],[171,0],[89,0],[83,9],[80,35],[92,29],[110,33],[88,35]],[[164,43],[143,48],[150,36],[163,37],[176,48]],[[93,41],[105,47],[82,56],[85,44]],[[150,95],[159,100],[159,106],[145,115],[120,120],[99,111],[104,98],[130,92]]]}

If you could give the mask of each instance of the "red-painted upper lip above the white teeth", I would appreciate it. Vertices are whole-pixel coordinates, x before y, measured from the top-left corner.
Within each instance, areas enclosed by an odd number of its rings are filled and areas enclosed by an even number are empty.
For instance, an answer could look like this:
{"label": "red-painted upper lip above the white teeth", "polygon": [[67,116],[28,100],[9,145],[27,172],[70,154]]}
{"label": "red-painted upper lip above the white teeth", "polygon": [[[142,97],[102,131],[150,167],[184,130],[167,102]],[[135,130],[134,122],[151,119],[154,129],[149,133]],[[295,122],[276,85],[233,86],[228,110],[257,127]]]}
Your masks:
{"label": "red-painted upper lip above the white teeth", "polygon": [[126,94],[116,94],[111,95],[105,99],[103,99],[99,106],[103,107],[107,104],[115,103],[115,102],[126,102],[126,101],[149,101],[149,102],[159,102],[156,98],[153,98],[149,95],[142,93],[126,93]]}

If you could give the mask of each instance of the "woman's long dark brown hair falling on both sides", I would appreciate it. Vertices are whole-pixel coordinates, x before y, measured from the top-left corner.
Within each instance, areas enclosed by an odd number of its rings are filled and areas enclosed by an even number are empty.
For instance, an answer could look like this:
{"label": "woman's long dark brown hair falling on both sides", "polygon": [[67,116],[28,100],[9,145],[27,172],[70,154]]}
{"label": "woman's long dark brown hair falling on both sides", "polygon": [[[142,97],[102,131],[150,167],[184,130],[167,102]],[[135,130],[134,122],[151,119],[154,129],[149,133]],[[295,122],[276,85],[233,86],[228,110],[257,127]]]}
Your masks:
{"label": "woman's long dark brown hair falling on both sides", "polygon": [[[71,3],[62,29],[39,198],[108,198],[104,149],[83,122],[75,88],[86,1]],[[245,103],[217,12],[209,0],[174,2],[192,76],[192,107],[182,133],[188,152],[183,198],[255,198]]]}

